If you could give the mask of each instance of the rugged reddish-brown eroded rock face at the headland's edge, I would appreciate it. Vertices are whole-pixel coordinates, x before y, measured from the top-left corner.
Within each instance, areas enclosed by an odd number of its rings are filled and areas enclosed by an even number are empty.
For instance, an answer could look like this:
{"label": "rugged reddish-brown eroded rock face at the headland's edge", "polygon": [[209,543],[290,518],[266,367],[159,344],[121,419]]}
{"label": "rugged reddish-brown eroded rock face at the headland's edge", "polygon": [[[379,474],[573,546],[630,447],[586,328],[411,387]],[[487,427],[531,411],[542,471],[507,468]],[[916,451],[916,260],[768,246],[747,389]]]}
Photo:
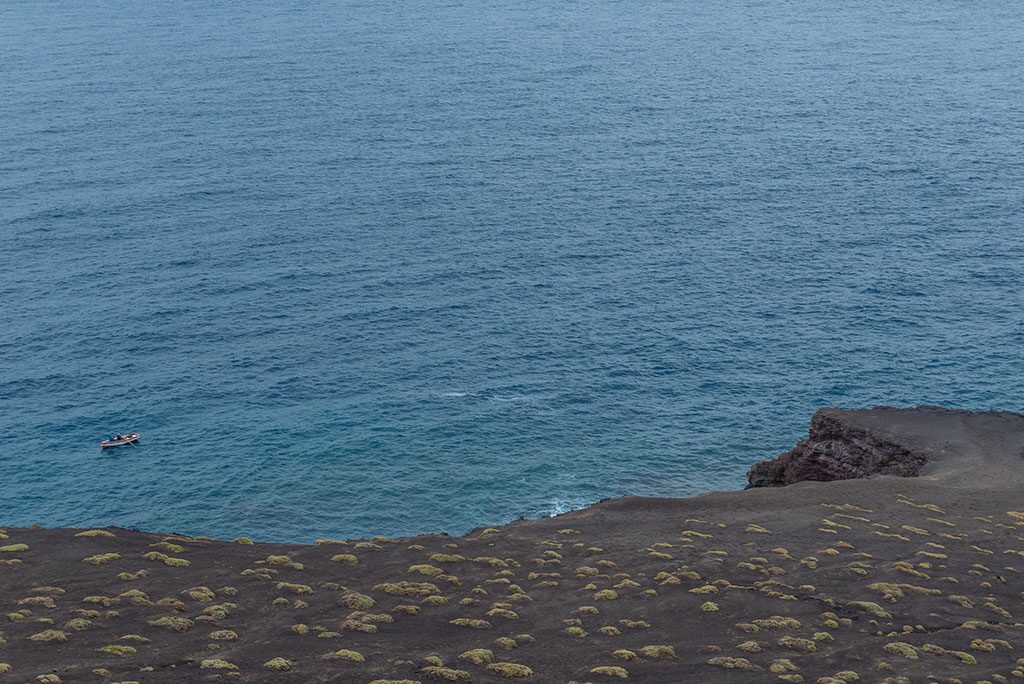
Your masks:
{"label": "rugged reddish-brown eroded rock face at the headland's edge", "polygon": [[804,480],[845,480],[869,475],[911,477],[927,457],[882,435],[845,424],[830,410],[811,419],[810,435],[771,461],[761,461],[746,473],[750,487],[784,486]]}

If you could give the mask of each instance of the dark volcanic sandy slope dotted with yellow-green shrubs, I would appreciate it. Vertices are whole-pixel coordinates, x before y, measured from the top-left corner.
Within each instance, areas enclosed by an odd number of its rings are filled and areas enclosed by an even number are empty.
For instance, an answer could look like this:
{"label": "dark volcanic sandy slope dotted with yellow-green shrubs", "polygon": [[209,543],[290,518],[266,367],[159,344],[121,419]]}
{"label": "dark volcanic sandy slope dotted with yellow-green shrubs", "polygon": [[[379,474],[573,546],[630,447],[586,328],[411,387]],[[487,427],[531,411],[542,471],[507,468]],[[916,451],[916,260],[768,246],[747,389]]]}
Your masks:
{"label": "dark volcanic sandy slope dotted with yellow-green shrubs", "polygon": [[821,417],[828,454],[895,444],[920,475],[458,539],[7,527],[0,682],[1024,681],[1024,416]]}

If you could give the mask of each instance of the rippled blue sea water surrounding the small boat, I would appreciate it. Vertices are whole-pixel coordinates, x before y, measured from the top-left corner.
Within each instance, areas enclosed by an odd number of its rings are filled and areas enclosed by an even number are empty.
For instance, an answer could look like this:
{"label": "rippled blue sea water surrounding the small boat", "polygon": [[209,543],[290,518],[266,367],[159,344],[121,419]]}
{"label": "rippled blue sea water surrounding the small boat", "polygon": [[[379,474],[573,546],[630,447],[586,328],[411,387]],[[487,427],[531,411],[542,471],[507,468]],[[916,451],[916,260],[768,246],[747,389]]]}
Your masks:
{"label": "rippled blue sea water surrounding the small boat", "polygon": [[1022,38],[4,0],[0,521],[462,532],[740,487],[825,404],[1024,409]]}

